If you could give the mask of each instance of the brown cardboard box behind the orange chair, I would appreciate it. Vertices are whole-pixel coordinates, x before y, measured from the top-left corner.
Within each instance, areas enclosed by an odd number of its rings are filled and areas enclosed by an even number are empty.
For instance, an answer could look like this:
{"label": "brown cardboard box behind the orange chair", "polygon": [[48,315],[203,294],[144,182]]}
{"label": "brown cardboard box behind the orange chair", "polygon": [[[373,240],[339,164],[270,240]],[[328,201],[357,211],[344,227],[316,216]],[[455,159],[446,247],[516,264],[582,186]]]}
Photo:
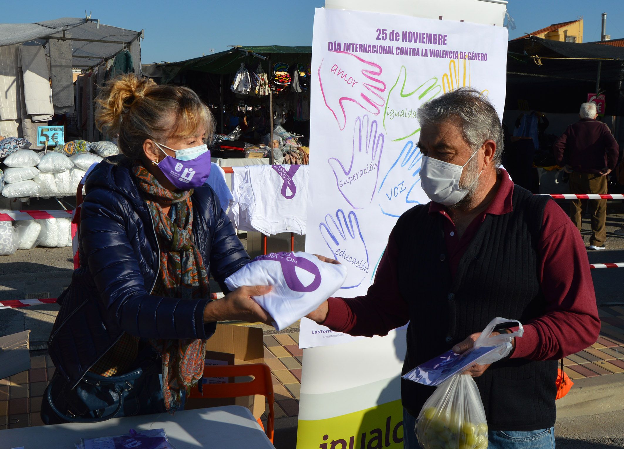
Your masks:
{"label": "brown cardboard box behind the orange chair", "polygon": [[[211,365],[244,365],[245,363],[264,363],[264,344],[262,329],[257,327],[217,324],[214,335],[206,345],[206,360]],[[228,378],[228,382],[245,382],[250,377]],[[210,383],[224,382],[225,378],[204,379],[203,388],[210,388]],[[193,408],[220,407],[223,405],[242,405],[249,408],[258,419],[265,412],[266,398],[255,395],[240,398],[193,398],[185,403],[185,410]]]}

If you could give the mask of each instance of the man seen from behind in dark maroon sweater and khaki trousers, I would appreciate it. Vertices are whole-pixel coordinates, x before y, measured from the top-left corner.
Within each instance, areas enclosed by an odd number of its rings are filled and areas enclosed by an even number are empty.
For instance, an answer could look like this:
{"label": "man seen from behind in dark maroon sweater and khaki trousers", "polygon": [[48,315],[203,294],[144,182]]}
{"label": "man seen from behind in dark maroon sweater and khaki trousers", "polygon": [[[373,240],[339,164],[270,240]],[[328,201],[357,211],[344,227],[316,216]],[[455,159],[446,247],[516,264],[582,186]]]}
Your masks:
{"label": "man seen from behind in dark maroon sweater and khaki trousers", "polygon": [[[611,131],[596,120],[595,103],[583,103],[580,121],[568,126],[553,146],[557,164],[570,174],[570,193],[607,194],[608,174],[618,163],[619,148]],[[590,249],[605,249],[607,241],[607,200],[587,200],[592,214]],[[578,230],[582,226],[581,200],[570,203],[570,218]]]}

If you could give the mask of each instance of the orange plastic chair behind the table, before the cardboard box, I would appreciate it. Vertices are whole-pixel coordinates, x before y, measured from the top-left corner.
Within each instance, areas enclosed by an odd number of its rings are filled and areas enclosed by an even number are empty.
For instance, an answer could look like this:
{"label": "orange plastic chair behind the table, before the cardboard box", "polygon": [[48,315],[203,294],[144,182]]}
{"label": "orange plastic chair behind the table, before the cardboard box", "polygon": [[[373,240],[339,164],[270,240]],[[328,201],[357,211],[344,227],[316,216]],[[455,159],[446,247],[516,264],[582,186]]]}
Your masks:
{"label": "orange plastic chair behind the table, before the cardboard box", "polygon": [[214,383],[202,385],[202,393],[199,387],[192,388],[189,397],[192,398],[238,398],[241,396],[264,395],[269,403],[269,414],[266,418],[266,429],[258,418],[258,424],[265,430],[266,436],[273,443],[273,425],[275,413],[273,412],[273,380],[271,368],[266,363],[252,363],[251,365],[221,365],[205,367],[203,377],[240,377],[253,376],[249,382]]}

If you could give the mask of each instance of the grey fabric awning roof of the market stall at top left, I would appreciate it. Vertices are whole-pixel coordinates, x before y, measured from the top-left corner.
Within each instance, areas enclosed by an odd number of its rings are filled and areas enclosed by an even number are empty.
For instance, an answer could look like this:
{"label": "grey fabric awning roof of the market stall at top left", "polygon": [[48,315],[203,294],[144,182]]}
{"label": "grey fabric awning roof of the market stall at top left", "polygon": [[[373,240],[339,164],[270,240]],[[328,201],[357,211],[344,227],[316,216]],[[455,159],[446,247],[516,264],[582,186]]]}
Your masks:
{"label": "grey fabric awning roof of the market stall at top left", "polygon": [[82,68],[110,59],[140,36],[142,31],[72,17],[37,23],[0,24],[0,46],[41,39],[66,39],[72,42],[72,64]]}

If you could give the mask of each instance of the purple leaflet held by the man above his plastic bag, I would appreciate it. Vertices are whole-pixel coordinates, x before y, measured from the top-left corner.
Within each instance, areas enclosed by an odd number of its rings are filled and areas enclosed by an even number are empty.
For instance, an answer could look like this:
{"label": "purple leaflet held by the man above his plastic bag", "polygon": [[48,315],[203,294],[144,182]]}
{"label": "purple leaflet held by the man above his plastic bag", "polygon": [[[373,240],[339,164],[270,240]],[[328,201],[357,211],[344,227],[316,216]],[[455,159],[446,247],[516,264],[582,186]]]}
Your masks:
{"label": "purple leaflet held by the man above his plastic bag", "polygon": [[466,371],[468,368],[479,365],[479,360],[489,353],[498,351],[498,346],[470,348],[464,353],[457,354],[447,351],[438,357],[434,357],[401,377],[412,380],[422,385],[437,387],[447,378]]}

